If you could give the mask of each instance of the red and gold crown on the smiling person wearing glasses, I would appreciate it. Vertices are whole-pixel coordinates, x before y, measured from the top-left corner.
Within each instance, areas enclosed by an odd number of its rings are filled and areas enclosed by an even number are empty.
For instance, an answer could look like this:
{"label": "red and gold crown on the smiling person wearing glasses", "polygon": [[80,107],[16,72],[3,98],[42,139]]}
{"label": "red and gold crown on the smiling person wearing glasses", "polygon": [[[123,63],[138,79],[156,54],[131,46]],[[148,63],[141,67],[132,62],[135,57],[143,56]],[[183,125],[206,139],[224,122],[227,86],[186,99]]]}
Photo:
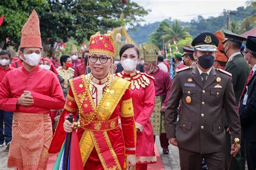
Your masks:
{"label": "red and gold crown on the smiling person wearing glasses", "polygon": [[116,43],[111,36],[111,33],[100,35],[97,32],[90,37],[89,53],[102,53],[104,55],[114,57],[114,51],[116,50]]}

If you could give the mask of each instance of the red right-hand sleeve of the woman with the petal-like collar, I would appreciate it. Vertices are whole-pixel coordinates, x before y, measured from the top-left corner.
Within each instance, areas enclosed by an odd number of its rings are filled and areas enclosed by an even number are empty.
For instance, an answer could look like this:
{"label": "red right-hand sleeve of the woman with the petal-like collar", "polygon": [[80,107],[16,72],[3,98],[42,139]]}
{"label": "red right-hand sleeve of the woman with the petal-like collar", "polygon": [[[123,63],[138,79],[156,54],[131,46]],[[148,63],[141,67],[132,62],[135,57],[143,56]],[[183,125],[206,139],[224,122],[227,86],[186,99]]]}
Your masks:
{"label": "red right-hand sleeve of the woman with the petal-like collar", "polygon": [[142,126],[145,126],[147,120],[149,120],[154,110],[156,91],[154,90],[154,81],[152,79],[150,79],[149,86],[146,86],[144,95],[144,107],[142,108],[142,111],[139,113],[138,117],[135,120],[136,123],[139,123]]}

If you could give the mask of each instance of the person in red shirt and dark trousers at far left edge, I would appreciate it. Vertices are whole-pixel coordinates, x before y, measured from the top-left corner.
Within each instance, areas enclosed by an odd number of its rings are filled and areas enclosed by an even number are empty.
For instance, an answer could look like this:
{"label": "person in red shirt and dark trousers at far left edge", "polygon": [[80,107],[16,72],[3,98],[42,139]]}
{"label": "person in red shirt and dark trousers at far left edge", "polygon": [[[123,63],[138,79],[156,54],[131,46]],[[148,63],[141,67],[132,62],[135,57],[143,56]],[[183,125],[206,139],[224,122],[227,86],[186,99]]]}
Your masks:
{"label": "person in red shirt and dark trousers at far left edge", "polygon": [[[0,51],[0,82],[5,74],[15,68],[10,66],[11,53],[7,50]],[[9,148],[11,142],[11,126],[13,112],[0,110],[0,146],[5,144]],[[3,126],[4,123],[4,126]]]}

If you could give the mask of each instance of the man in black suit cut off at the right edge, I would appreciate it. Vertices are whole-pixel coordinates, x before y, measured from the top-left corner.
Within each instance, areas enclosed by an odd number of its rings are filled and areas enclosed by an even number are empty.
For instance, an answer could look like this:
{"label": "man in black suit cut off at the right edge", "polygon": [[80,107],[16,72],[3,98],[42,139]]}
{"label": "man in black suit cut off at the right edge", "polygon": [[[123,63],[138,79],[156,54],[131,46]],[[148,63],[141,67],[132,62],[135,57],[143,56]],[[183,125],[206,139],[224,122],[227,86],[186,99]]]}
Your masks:
{"label": "man in black suit cut off at the right edge", "polygon": [[248,36],[242,55],[252,65],[239,101],[239,115],[245,138],[248,169],[256,169],[256,37]]}

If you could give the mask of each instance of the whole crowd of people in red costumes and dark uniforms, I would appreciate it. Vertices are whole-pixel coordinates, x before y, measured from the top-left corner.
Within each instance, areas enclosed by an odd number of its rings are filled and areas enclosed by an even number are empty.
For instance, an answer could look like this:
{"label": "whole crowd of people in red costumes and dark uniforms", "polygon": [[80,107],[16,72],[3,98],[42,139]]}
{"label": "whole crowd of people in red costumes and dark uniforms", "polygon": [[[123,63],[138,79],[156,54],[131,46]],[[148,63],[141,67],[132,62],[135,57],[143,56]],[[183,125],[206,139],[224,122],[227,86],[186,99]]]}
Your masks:
{"label": "whole crowd of people in red costumes and dark uniforms", "polygon": [[153,44],[117,48],[111,34],[92,35],[82,58],[72,44],[57,63],[42,56],[33,10],[19,58],[0,51],[8,167],[46,169],[59,153],[62,169],[72,133],[68,169],[147,169],[160,161],[156,135],[163,154],[178,147],[182,170],[256,169],[256,37],[203,32],[169,60]]}

